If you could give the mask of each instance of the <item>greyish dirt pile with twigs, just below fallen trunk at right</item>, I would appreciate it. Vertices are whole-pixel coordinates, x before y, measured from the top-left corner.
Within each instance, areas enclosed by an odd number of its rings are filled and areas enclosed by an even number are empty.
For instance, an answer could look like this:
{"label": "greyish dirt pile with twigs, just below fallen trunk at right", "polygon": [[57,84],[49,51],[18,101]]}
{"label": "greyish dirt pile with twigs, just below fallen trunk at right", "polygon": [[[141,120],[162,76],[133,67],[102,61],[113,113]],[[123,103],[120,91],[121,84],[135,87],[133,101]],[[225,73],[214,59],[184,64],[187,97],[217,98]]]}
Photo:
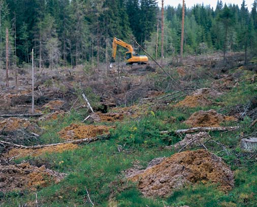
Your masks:
{"label": "greyish dirt pile with twigs, just below fallen trunk at right", "polygon": [[[207,141],[210,138],[210,135],[207,132],[200,132],[198,134],[187,134],[185,135],[184,139],[179,141],[178,143],[167,146],[167,149],[180,149],[181,147],[185,147],[185,149],[190,149],[193,146],[202,145],[205,141]],[[193,141],[195,140],[195,141]],[[191,143],[190,143],[191,142]],[[189,144],[190,143],[190,144]]]}

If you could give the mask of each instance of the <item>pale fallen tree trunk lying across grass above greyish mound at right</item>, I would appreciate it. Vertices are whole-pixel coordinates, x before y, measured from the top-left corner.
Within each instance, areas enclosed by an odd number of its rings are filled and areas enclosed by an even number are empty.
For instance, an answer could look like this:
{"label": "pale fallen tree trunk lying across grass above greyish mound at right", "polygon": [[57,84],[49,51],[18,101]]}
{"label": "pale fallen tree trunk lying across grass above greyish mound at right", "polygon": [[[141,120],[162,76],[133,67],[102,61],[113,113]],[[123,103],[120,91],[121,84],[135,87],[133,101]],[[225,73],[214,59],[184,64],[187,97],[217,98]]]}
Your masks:
{"label": "pale fallen tree trunk lying across grass above greyish mound at right", "polygon": [[[176,130],[176,134],[190,134],[194,132],[214,132],[214,131],[219,131],[219,132],[224,132],[224,131],[232,131],[239,129],[239,127],[195,127],[195,128],[190,128],[190,129],[179,129]],[[162,131],[160,134],[169,134],[171,131]]]}

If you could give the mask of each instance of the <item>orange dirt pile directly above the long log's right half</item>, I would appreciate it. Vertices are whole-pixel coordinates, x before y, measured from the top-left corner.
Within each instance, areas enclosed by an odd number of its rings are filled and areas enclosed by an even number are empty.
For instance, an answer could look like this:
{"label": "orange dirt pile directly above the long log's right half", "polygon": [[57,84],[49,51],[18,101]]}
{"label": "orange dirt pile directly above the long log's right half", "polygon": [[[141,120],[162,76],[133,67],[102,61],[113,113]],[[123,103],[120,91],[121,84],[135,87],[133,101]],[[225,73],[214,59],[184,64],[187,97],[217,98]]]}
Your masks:
{"label": "orange dirt pile directly above the long log's right half", "polygon": [[59,135],[65,140],[85,139],[96,137],[98,135],[109,134],[110,129],[113,129],[113,127],[71,124],[61,130]]}

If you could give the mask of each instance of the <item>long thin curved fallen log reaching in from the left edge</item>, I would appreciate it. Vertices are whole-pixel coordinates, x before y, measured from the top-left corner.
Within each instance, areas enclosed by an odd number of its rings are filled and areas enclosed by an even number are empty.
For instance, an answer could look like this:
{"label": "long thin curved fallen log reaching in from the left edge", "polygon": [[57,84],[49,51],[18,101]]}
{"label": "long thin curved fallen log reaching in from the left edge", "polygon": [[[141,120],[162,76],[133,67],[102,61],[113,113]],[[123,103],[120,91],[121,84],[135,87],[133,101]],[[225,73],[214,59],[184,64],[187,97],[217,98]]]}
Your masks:
{"label": "long thin curved fallen log reaching in from the left edge", "polygon": [[94,142],[94,141],[98,141],[98,140],[106,140],[109,139],[110,135],[100,135],[97,137],[93,137],[93,138],[84,138],[84,139],[78,139],[78,140],[72,140],[72,141],[66,141],[66,142],[59,142],[59,143],[54,143],[54,144],[44,144],[44,145],[36,145],[36,146],[24,146],[24,145],[19,145],[19,144],[14,144],[11,142],[6,142],[6,141],[0,141],[0,143],[3,144],[7,144],[7,145],[11,145],[14,146],[16,148],[20,148],[20,149],[32,149],[32,150],[37,150],[37,149],[41,149],[44,147],[49,147],[49,146],[57,146],[57,145],[61,145],[61,144],[68,144],[68,143],[72,143],[72,144],[80,144],[83,142]]}

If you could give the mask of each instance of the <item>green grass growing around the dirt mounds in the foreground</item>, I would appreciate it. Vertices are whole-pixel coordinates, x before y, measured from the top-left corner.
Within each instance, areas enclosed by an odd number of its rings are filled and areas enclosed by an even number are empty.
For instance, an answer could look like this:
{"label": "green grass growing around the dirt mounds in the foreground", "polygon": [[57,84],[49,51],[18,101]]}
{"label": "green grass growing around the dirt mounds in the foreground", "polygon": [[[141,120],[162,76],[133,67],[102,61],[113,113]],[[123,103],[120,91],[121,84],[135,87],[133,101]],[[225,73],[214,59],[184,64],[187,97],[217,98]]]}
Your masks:
{"label": "green grass growing around the dirt mounds in the foreground", "polygon": [[[205,81],[206,83],[207,81]],[[225,106],[245,104],[256,96],[256,85],[249,81],[240,82],[239,86],[215,99]],[[133,167],[137,162],[146,167],[156,157],[168,157],[175,152],[165,150],[164,146],[174,144],[182,137],[170,133],[161,135],[159,131],[174,131],[188,128],[183,121],[199,110],[221,110],[223,106],[205,106],[196,108],[174,108],[151,110],[137,119],[126,119],[115,123],[110,140],[83,144],[79,149],[44,155],[29,160],[39,165],[67,173],[67,177],[57,185],[39,189],[37,192],[40,206],[91,206],[88,203],[86,188],[95,206],[109,206],[109,201],[116,206],[256,206],[257,204],[257,165],[252,154],[240,150],[241,134],[250,134],[257,126],[249,127],[251,119],[245,117],[238,124],[239,130],[228,133],[210,132],[215,142],[206,147],[210,152],[223,158],[235,172],[235,186],[228,193],[218,191],[215,185],[187,186],[175,191],[166,198],[146,198],[137,189],[136,184],[127,182],[122,171]],[[229,109],[222,111],[228,113]],[[58,131],[71,123],[81,123],[85,113],[72,112],[55,121],[41,122],[44,134],[40,143],[60,141]],[[107,123],[99,123],[107,124]],[[237,123],[224,123],[226,126]],[[108,124],[110,125],[110,123]],[[121,152],[118,151],[121,147]],[[224,148],[225,147],[225,148]],[[192,150],[199,149],[195,147]],[[28,159],[28,158],[25,158]],[[0,193],[0,206],[19,206],[35,203],[35,192]],[[115,205],[114,205],[115,206]]]}

